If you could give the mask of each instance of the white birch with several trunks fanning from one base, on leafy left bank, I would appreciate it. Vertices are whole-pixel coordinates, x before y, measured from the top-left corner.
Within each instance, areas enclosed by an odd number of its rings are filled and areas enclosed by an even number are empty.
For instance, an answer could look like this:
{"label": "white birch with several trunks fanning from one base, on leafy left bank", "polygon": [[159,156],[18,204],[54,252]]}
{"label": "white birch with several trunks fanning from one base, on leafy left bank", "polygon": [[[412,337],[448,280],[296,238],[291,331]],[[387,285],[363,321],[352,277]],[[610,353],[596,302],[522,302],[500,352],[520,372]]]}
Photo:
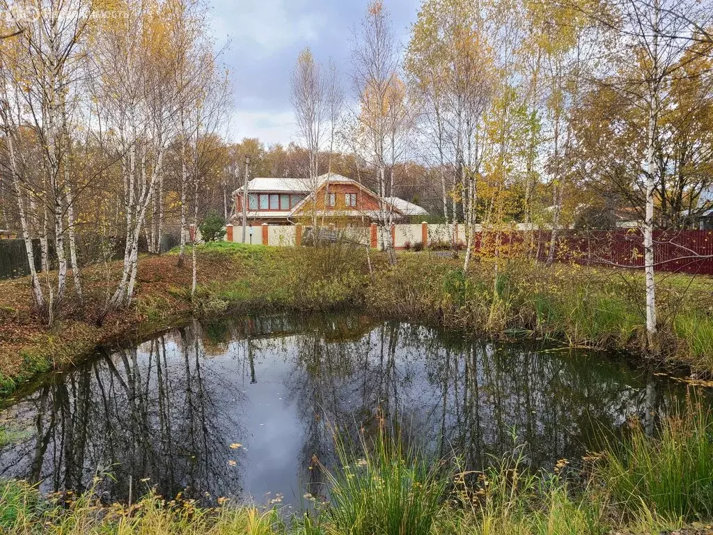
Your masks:
{"label": "white birch with several trunks fanning from one base, on leafy left bank", "polygon": [[158,6],[129,1],[116,15],[103,28],[96,68],[123,180],[123,270],[110,300],[111,306],[122,307],[133,297],[140,232],[164,172],[180,88],[166,57],[168,31]]}

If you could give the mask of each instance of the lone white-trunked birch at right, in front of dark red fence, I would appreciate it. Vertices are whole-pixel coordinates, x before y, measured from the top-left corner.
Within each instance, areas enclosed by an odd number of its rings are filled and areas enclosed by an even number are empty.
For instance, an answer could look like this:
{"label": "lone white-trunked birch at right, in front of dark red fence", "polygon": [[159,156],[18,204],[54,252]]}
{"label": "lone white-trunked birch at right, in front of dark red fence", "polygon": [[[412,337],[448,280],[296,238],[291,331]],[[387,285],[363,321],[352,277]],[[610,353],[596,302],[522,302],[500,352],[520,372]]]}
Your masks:
{"label": "lone white-trunked birch at right, in front of dark red fence", "polygon": [[597,76],[594,83],[630,103],[642,116],[634,140],[641,148],[641,160],[629,176],[630,188],[642,192],[646,333],[650,349],[655,350],[658,323],[653,232],[656,189],[662,181],[656,157],[663,141],[662,123],[672,112],[673,82],[688,76],[688,62],[682,58],[692,42],[705,41],[699,29],[709,21],[710,14],[706,6],[694,1],[622,0],[614,6],[614,21],[591,15],[617,35],[610,70],[605,76]]}

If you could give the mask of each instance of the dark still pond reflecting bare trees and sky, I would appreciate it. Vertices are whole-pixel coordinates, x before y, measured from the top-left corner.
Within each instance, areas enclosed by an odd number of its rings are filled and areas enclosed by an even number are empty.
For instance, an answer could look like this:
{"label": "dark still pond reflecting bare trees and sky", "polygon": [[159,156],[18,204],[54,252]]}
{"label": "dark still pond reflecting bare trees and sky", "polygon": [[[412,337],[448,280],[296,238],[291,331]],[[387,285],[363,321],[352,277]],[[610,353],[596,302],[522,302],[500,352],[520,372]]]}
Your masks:
{"label": "dark still pond reflecting bare trees and sky", "polygon": [[299,507],[326,493],[315,459],[334,462],[335,427],[356,437],[398,420],[404,439],[471,469],[515,444],[552,469],[630,419],[652,431],[684,394],[602,352],[362,315],[193,320],[6,400],[0,423],[17,438],[0,449],[0,477],[43,491],[95,484],[108,501],[155,486]]}

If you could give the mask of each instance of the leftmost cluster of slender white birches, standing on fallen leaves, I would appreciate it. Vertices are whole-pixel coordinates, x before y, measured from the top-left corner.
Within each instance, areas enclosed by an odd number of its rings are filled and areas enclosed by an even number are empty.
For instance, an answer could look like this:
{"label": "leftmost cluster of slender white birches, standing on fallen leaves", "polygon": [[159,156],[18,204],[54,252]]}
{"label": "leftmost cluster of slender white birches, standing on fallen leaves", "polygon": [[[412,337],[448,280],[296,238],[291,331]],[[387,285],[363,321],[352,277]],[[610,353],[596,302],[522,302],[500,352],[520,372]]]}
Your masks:
{"label": "leftmost cluster of slender white birches, standing on fallen leaves", "polygon": [[[9,10],[9,5],[0,4]],[[77,91],[80,71],[83,68],[82,44],[88,33],[93,2],[62,0],[38,0],[28,4],[34,16],[25,21],[16,21],[19,32],[14,40],[12,54],[3,62],[4,70],[4,131],[8,141],[19,128],[31,128],[32,136],[41,156],[37,162],[41,179],[29,192],[29,202],[24,203],[28,192],[23,187],[28,182],[19,176],[18,158],[21,156],[16,143],[9,150],[11,174],[14,176],[15,193],[24,235],[28,260],[34,264],[27,208],[41,209],[40,243],[43,268],[48,267],[48,234],[51,233],[56,250],[58,272],[56,286],[46,278],[47,295],[44,294],[36,275],[32,274],[33,296],[51,324],[66,297],[68,261],[66,246],[69,245],[73,279],[77,295],[81,299],[81,279],[74,234],[74,202],[71,190],[69,151],[71,136],[68,131],[68,115],[73,106],[68,104]],[[15,113],[10,113],[14,108]],[[14,118],[12,124],[11,118]],[[14,131],[14,132],[13,132]],[[16,140],[14,140],[16,141]],[[67,218],[68,215],[68,218]],[[67,243],[67,238],[69,243]]]}

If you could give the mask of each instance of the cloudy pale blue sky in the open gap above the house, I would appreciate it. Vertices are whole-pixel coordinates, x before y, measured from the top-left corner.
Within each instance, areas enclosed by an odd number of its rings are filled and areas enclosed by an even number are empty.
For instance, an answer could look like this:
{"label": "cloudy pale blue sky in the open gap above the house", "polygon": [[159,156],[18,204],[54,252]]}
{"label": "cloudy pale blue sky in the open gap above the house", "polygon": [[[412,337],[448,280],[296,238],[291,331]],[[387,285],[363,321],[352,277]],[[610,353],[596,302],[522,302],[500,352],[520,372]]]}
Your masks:
{"label": "cloudy pale blue sky in the open gap above the house", "polygon": [[[216,46],[230,68],[234,141],[298,141],[289,103],[289,78],[305,45],[319,61],[330,58],[351,92],[352,31],[368,0],[210,0]],[[420,0],[384,0],[394,32],[406,44]]]}

